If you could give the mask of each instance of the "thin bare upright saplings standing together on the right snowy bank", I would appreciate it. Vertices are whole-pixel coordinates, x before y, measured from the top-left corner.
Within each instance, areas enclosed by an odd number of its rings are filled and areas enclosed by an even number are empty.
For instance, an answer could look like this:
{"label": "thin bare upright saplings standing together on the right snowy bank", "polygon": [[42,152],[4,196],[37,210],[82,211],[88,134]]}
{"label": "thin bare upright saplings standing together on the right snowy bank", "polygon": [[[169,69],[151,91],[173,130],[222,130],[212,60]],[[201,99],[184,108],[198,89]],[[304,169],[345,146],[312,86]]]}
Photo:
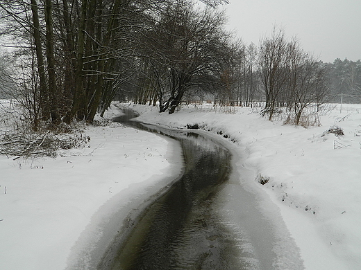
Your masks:
{"label": "thin bare upright saplings standing together on the right snowy bank", "polygon": [[328,97],[325,66],[303,51],[297,39],[287,41],[282,30],[274,29],[271,37],[262,39],[258,68],[265,90],[262,114],[269,120],[277,108],[285,107],[299,125],[305,108],[319,108]]}

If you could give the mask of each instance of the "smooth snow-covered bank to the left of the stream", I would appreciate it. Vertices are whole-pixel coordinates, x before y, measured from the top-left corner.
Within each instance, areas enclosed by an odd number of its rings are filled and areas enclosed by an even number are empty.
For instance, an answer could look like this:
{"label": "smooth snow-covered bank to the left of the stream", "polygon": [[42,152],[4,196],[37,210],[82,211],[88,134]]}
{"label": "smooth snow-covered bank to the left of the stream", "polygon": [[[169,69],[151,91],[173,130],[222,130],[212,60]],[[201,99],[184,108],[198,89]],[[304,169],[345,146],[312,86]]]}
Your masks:
{"label": "smooth snow-covered bank to the left of the stream", "polygon": [[85,134],[90,143],[56,159],[0,156],[1,270],[74,269],[78,255],[86,269],[83,252],[104,234],[98,226],[181,172],[179,146],[161,136],[117,123]]}

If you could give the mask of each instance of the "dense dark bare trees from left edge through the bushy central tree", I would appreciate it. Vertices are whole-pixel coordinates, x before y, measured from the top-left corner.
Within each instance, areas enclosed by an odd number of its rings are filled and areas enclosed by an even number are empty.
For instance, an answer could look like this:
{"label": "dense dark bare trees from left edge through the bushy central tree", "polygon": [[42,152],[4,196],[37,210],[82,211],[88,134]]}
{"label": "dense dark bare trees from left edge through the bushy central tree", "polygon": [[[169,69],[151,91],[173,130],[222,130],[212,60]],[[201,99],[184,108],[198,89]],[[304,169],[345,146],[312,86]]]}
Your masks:
{"label": "dense dark bare trees from left edge through the bushy central tree", "polygon": [[[92,122],[121,87],[139,89],[141,81],[158,84],[158,99],[171,87],[163,110],[174,111],[192,77],[215,70],[210,59],[221,58],[226,42],[224,16],[214,9],[226,0],[200,1],[208,7],[196,11],[188,0],[1,0],[0,34],[19,48],[10,94],[26,105],[34,129],[42,121]],[[167,86],[158,80],[164,71]]]}

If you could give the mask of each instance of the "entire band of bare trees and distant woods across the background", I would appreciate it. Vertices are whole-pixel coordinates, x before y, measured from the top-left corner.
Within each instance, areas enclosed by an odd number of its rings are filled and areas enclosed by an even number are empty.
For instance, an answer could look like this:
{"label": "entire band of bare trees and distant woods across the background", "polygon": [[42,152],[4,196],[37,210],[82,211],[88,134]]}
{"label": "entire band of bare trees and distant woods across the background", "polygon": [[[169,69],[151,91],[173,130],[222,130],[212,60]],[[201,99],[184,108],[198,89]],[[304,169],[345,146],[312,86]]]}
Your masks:
{"label": "entire band of bare trees and distant woods across the background", "polygon": [[[0,98],[17,100],[35,131],[92,123],[112,100],[280,108],[299,125],[305,109],[361,101],[360,60],[323,63],[274,27],[260,44],[225,30],[227,1],[0,0]],[[242,33],[240,33],[242,35]],[[5,42],[4,42],[5,44]]]}

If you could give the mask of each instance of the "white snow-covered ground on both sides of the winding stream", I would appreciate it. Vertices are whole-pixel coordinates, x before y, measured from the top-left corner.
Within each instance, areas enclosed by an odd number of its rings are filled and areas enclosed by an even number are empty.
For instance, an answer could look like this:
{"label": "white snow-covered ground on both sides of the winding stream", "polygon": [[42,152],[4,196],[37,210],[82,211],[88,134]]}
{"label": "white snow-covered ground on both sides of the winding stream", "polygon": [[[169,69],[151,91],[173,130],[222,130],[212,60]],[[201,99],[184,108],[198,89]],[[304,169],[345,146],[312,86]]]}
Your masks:
{"label": "white snow-covered ground on both sides of the winding stream", "polygon": [[[197,124],[232,141],[245,155],[240,166],[253,172],[249,183],[280,208],[306,270],[361,269],[361,105],[330,107],[322,125],[308,129],[250,108],[197,105],[169,115],[128,106],[146,123]],[[115,114],[112,106],[108,117]],[[333,125],[344,136],[324,134]],[[0,156],[0,269],[72,269],[77,252],[105,233],[99,224],[115,204],[125,211],[133,197],[181,170],[178,144],[166,138],[121,125],[85,133],[89,145],[55,159]]]}

